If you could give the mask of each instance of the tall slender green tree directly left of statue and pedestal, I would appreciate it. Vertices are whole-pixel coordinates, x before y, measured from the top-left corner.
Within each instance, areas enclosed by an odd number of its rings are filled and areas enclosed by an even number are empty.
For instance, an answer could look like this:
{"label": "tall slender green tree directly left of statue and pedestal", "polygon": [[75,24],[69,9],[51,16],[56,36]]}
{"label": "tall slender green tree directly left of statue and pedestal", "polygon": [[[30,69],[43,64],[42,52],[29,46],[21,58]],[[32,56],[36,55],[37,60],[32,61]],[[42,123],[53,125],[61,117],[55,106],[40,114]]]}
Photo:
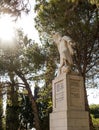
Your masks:
{"label": "tall slender green tree directly left of statue and pedestal", "polygon": [[41,75],[43,80],[42,88],[39,84],[36,84],[34,96],[36,97],[37,106],[39,110],[39,117],[41,121],[41,129],[49,130],[49,113],[52,112],[52,80],[55,77],[55,70],[57,68],[54,61],[56,61],[54,55],[58,54],[53,44],[43,45],[44,53],[46,55],[45,70]]}

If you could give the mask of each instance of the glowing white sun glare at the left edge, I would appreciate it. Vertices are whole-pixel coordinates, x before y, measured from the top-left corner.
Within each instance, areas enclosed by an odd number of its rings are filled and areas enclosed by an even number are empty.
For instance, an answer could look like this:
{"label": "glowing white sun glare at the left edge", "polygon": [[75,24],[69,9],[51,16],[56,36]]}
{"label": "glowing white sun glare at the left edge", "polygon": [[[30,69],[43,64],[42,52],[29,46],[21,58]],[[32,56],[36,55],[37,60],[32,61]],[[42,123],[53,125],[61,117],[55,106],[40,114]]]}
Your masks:
{"label": "glowing white sun glare at the left edge", "polygon": [[11,43],[15,38],[15,24],[10,15],[0,15],[0,41]]}

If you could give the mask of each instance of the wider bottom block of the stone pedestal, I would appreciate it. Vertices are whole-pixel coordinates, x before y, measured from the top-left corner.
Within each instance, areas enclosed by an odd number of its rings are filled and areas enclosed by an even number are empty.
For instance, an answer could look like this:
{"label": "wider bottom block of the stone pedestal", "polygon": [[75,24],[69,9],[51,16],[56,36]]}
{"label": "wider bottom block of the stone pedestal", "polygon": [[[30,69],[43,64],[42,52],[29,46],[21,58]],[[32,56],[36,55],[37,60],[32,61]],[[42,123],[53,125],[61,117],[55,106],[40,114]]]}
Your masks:
{"label": "wider bottom block of the stone pedestal", "polygon": [[88,112],[54,112],[50,115],[50,130],[89,130]]}

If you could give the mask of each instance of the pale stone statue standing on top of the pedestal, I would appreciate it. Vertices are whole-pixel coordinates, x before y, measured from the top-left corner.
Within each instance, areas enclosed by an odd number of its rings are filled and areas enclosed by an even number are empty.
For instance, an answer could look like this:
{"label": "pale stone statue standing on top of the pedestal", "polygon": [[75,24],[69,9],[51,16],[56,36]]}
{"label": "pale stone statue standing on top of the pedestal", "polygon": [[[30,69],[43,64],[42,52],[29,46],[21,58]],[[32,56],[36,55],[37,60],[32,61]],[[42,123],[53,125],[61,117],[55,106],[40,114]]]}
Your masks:
{"label": "pale stone statue standing on top of the pedestal", "polygon": [[59,54],[60,54],[60,67],[59,74],[68,73],[71,71],[71,67],[73,66],[73,41],[68,36],[61,37],[59,33],[55,33],[53,35],[53,40],[57,45]]}

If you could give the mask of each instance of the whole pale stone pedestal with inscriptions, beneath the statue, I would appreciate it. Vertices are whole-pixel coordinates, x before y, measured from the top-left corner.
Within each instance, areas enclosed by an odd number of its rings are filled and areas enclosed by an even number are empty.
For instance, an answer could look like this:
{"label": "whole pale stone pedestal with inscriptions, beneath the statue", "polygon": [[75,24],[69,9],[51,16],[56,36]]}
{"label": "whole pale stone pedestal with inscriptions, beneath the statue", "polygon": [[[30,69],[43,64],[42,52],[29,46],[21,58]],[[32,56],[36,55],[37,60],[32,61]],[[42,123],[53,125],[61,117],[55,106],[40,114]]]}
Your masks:
{"label": "whole pale stone pedestal with inscriptions, beneath the statue", "polygon": [[50,130],[89,130],[85,111],[83,78],[61,74],[53,80],[53,112]]}

